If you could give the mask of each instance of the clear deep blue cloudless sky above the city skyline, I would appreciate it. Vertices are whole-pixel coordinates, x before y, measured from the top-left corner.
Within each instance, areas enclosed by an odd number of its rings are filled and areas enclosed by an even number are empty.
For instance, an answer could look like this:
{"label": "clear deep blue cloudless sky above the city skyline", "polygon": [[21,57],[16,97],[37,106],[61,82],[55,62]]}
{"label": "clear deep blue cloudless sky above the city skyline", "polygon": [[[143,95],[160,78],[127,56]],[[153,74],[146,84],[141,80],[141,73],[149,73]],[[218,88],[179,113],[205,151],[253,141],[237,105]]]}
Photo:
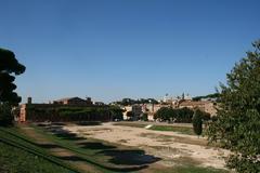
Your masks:
{"label": "clear deep blue cloudless sky above the city skyline", "polygon": [[0,0],[0,46],[42,103],[214,92],[260,38],[259,0]]}

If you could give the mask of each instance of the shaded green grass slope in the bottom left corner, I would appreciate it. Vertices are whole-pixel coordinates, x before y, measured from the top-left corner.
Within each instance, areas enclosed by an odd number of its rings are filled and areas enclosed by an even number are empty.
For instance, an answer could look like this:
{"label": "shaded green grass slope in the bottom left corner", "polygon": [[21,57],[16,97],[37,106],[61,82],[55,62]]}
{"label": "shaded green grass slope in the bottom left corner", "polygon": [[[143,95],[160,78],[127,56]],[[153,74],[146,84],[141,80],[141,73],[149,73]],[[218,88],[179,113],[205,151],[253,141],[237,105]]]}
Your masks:
{"label": "shaded green grass slope in the bottom left corner", "polygon": [[77,172],[24,138],[17,128],[0,128],[0,172]]}

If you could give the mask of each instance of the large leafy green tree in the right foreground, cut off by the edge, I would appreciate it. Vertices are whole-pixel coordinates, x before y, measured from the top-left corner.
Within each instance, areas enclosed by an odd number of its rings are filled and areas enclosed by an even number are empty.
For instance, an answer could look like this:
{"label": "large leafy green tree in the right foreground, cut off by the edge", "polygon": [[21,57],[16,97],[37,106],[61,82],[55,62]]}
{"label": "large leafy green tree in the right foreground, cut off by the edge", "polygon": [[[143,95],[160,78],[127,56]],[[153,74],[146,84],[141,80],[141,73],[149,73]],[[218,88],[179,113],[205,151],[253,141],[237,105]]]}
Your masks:
{"label": "large leafy green tree in the right foreground, cut off by the edge", "polygon": [[239,173],[260,172],[260,40],[226,75],[221,104],[209,124],[210,142],[230,149],[227,167]]}

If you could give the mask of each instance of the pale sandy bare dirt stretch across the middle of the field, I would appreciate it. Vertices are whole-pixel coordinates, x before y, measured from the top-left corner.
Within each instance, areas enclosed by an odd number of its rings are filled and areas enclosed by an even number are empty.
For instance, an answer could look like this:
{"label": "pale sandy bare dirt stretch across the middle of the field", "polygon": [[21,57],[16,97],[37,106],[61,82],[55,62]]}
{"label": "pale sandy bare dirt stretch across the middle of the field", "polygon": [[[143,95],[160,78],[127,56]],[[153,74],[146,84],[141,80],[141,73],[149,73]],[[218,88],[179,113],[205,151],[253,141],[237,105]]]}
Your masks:
{"label": "pale sandy bare dirt stretch across the middle of the field", "polygon": [[80,136],[141,148],[148,155],[161,158],[158,163],[166,167],[185,162],[224,169],[224,157],[229,154],[227,150],[207,146],[206,138],[176,132],[113,125],[110,122],[87,127],[69,124],[63,128]]}

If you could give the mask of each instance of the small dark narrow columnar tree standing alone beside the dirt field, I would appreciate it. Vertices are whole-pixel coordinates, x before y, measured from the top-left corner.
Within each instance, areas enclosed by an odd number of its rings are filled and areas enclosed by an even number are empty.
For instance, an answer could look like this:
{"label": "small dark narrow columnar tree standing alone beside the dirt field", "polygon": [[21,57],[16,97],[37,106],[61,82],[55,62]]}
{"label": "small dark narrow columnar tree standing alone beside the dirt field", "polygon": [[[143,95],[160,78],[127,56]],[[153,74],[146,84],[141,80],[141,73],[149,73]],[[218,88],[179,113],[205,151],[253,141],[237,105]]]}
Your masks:
{"label": "small dark narrow columnar tree standing alone beside the dirt field", "polygon": [[203,116],[204,112],[199,109],[196,109],[193,116],[193,131],[198,136],[203,133]]}

